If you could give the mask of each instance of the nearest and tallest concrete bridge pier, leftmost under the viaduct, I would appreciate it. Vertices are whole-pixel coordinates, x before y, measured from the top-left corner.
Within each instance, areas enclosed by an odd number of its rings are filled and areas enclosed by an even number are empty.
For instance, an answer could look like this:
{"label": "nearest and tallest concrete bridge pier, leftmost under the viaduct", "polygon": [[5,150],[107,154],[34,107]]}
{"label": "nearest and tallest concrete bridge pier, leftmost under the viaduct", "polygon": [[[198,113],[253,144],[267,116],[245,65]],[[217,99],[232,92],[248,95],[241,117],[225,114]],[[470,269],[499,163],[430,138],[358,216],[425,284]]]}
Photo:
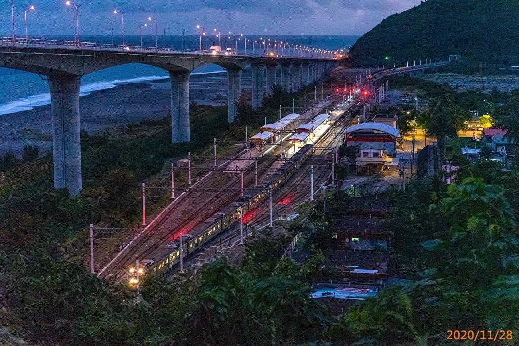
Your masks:
{"label": "nearest and tallest concrete bridge pier, leftmost under the viaduct", "polygon": [[48,77],[52,113],[54,189],[81,191],[79,77]]}

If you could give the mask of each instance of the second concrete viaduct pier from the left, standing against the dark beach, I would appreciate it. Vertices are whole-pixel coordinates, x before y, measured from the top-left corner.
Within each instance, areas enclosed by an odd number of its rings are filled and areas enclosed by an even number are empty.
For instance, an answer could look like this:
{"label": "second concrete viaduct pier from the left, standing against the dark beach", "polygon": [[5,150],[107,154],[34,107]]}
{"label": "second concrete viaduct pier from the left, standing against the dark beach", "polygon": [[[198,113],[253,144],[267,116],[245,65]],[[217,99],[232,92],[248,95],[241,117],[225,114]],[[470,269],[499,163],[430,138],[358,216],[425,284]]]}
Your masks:
{"label": "second concrete viaduct pier from the left, standing against the dark beach", "polygon": [[169,71],[171,81],[171,138],[189,141],[189,71]]}

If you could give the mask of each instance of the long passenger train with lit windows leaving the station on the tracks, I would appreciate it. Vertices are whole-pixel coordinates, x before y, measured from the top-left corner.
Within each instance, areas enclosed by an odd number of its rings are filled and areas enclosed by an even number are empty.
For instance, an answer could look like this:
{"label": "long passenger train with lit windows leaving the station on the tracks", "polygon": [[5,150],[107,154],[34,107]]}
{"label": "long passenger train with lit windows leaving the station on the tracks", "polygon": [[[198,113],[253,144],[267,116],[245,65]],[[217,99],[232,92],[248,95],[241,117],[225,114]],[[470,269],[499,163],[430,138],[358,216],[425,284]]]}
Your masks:
{"label": "long passenger train with lit windows leaving the station on the tracks", "polygon": [[[187,257],[189,254],[201,249],[204,244],[216,237],[218,234],[224,232],[240,220],[240,209],[247,206],[247,210],[254,209],[260,203],[269,197],[269,185],[272,185],[272,192],[275,192],[296,172],[296,170],[303,165],[305,160],[313,153],[312,145],[305,145],[297,151],[289,160],[285,162],[272,176],[270,181],[260,187],[261,191],[254,196],[244,196],[239,198],[221,212],[216,213],[213,217],[206,220],[190,230],[193,237],[183,241],[183,256]],[[243,212],[243,211],[242,211]],[[209,223],[209,225],[208,225]],[[157,275],[162,275],[167,272],[177,263],[180,263],[180,244],[179,242],[172,242],[171,248],[166,255],[160,257],[158,261],[148,261],[146,272]],[[165,248],[167,249],[167,248]]]}

